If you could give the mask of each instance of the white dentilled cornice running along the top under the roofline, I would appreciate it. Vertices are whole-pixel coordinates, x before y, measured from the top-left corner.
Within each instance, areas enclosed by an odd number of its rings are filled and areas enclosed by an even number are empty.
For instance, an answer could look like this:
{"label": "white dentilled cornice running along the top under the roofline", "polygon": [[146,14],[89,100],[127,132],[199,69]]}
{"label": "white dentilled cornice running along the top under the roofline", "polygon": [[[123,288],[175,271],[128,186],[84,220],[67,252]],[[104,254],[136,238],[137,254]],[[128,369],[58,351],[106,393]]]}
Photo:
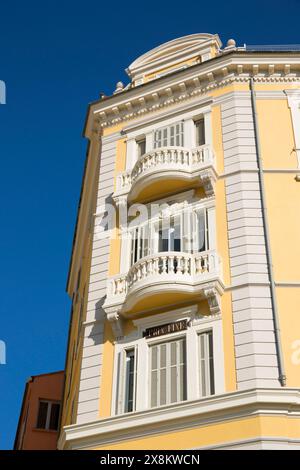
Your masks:
{"label": "white dentilled cornice running along the top under the roofline", "polygon": [[99,101],[92,105],[90,114],[99,119],[101,127],[107,127],[178,105],[233,82],[248,82],[250,77],[260,83],[298,83],[300,59],[288,56],[251,58],[251,55],[243,57],[234,53],[219,56]]}

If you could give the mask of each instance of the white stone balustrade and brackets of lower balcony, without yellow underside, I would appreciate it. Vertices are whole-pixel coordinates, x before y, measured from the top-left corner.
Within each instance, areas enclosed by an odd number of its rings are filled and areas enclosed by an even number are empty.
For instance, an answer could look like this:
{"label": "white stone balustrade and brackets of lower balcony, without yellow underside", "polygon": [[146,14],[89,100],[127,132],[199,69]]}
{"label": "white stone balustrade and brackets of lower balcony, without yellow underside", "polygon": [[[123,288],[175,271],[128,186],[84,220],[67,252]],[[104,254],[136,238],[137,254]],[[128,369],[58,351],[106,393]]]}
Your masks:
{"label": "white stone balustrade and brackets of lower balcony, without yellow underside", "polygon": [[116,336],[122,336],[122,319],[126,312],[146,296],[184,292],[199,294],[208,300],[212,314],[220,312],[219,296],[224,285],[221,260],[215,250],[196,254],[161,252],[136,262],[127,273],[107,280],[103,305]]}

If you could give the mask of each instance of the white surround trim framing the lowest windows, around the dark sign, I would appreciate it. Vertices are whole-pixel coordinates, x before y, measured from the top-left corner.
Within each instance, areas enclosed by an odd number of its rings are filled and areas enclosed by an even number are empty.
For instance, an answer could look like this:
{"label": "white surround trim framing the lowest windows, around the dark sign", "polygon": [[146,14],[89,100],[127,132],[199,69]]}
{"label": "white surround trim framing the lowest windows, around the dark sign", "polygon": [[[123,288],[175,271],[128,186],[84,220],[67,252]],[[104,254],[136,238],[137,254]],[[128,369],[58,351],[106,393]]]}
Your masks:
{"label": "white surround trim framing the lowest windows, around the dark sign", "polygon": [[[197,314],[197,305],[171,310],[155,316],[142,317],[133,320],[133,324],[137,330],[127,337],[123,337],[115,342],[115,357],[113,371],[113,396],[111,414],[114,416],[116,410],[123,409],[123,400],[118,396],[117,391],[124,389],[124,364],[120,368],[120,355],[124,356],[124,351],[135,348],[137,355],[137,384],[136,384],[136,410],[149,409],[150,402],[150,384],[149,384],[149,347],[156,343],[169,342],[181,337],[186,337],[187,345],[187,399],[192,400],[199,398],[200,395],[200,354],[198,336],[205,331],[213,333],[213,353],[214,353],[214,382],[215,394],[224,393],[224,352],[223,352],[223,334],[222,321],[220,315],[204,315]],[[159,326],[166,323],[172,323],[179,320],[187,319],[189,326],[185,331],[166,334],[156,338],[144,338],[143,331],[152,326]],[[122,392],[124,395],[124,390]],[[117,405],[117,402],[121,405]],[[121,412],[122,413],[122,412]],[[128,414],[128,413],[127,413]],[[130,414],[130,413],[129,413]]]}

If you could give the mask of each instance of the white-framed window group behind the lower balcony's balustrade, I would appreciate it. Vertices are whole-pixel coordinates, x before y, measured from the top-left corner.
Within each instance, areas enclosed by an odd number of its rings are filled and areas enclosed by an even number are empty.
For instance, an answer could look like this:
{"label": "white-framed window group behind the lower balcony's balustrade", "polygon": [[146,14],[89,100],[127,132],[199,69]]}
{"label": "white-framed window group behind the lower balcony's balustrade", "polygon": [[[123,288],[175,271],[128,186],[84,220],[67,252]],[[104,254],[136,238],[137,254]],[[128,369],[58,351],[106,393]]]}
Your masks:
{"label": "white-framed window group behind the lower balcony's balustrade", "polygon": [[210,249],[208,209],[194,205],[167,217],[153,218],[129,230],[130,263],[161,252],[197,253]]}

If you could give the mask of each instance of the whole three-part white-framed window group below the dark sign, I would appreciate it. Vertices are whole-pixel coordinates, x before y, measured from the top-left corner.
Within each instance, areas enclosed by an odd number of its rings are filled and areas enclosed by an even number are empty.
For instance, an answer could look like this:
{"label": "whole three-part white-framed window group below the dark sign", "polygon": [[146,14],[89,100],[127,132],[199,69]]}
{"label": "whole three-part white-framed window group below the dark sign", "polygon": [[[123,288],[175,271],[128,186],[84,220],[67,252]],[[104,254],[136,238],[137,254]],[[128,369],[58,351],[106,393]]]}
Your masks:
{"label": "whole three-part white-framed window group below the dark sign", "polygon": [[186,332],[171,333],[165,339],[143,336],[132,346],[120,345],[115,364],[116,413],[223,392],[221,320],[211,324],[215,326],[189,325]]}

